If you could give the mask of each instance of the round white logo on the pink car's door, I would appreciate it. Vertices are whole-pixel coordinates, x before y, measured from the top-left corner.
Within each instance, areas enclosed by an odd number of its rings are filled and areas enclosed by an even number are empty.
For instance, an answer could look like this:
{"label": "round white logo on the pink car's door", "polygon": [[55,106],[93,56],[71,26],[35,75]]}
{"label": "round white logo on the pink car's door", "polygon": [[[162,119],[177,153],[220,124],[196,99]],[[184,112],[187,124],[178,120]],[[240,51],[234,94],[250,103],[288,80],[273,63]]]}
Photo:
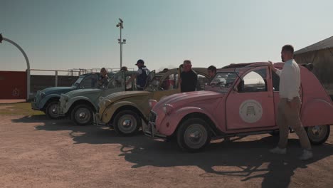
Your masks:
{"label": "round white logo on the pink car's door", "polygon": [[239,107],[239,115],[244,122],[257,122],[263,116],[263,108],[257,100],[245,100]]}

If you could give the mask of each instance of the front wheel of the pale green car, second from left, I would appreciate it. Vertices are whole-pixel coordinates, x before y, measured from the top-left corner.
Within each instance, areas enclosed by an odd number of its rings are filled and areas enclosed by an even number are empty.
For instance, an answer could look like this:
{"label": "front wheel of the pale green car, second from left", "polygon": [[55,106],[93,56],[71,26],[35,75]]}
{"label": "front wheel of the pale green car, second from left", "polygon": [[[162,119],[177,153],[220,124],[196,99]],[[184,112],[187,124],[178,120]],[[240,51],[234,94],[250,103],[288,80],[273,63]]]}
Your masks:
{"label": "front wheel of the pale green car, second from left", "polygon": [[93,110],[89,105],[76,105],[70,113],[70,118],[76,125],[91,125],[93,123]]}

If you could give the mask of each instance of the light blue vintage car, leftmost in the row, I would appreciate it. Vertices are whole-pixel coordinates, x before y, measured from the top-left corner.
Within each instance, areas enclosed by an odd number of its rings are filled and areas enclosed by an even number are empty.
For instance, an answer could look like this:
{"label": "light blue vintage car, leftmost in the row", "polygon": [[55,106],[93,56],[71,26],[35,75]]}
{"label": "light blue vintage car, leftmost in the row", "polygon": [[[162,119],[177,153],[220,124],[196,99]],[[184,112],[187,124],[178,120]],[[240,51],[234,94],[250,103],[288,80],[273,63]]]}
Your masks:
{"label": "light blue vintage car, leftmost in the row", "polygon": [[[109,73],[111,76],[113,73]],[[95,84],[91,83],[91,80],[97,80],[99,73],[88,73],[80,75],[78,80],[70,87],[51,87],[43,90],[38,90],[35,98],[31,102],[31,108],[33,110],[41,110],[46,113],[46,116],[51,119],[57,119],[59,117],[57,109],[59,109],[60,95],[68,93],[72,90],[78,90],[83,88],[95,88]]]}

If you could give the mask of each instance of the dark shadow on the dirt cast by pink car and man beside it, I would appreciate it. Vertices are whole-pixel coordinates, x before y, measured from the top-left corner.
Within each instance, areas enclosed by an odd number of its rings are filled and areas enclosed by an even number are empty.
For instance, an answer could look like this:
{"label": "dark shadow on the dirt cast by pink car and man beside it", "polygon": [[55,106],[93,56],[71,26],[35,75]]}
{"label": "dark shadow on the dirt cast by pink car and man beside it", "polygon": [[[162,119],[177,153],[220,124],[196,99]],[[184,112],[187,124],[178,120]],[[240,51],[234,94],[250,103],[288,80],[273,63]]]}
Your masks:
{"label": "dark shadow on the dirt cast by pink car and man beside it", "polygon": [[312,160],[299,160],[302,150],[297,139],[290,139],[286,155],[274,155],[269,149],[278,137],[267,136],[255,141],[212,143],[199,153],[177,150],[176,143],[154,141],[147,147],[122,150],[122,156],[134,163],[132,168],[145,166],[176,167],[197,166],[204,170],[201,177],[240,177],[241,181],[263,179],[262,187],[288,187],[298,168],[307,168],[319,160],[333,155],[333,145],[314,146]]}

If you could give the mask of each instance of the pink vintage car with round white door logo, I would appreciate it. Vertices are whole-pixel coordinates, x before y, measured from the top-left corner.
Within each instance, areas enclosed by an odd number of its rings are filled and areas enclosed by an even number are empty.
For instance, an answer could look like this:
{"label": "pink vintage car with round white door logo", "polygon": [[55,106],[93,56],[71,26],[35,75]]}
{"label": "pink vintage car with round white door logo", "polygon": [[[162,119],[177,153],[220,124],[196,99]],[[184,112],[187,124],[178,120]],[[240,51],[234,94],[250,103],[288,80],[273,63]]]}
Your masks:
{"label": "pink vintage car with round white door logo", "polygon": [[[283,63],[274,66],[281,69]],[[300,117],[310,142],[322,144],[333,124],[332,100],[306,66],[300,71]],[[205,90],[149,101],[153,108],[144,133],[176,138],[190,152],[203,149],[211,138],[276,134],[279,81],[268,63],[231,64],[218,70]]]}

